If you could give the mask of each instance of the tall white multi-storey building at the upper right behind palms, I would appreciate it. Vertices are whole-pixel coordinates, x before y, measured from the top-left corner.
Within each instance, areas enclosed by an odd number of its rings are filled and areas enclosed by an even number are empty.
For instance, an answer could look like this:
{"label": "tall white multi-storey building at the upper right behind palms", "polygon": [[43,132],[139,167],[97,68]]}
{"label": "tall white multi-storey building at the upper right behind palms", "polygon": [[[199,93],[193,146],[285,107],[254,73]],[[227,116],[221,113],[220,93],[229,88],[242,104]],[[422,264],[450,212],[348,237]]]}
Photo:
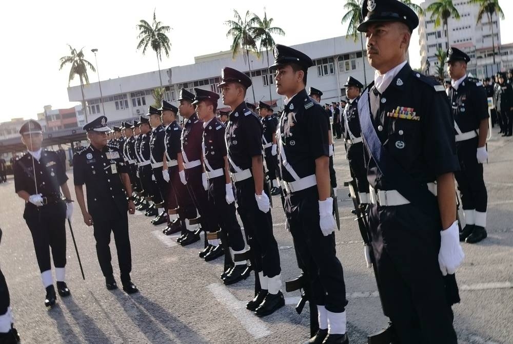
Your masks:
{"label": "tall white multi-storey building at the upper right behind palms", "polygon": [[[420,6],[426,10],[435,0],[426,0]],[[469,4],[468,0],[454,0],[454,6],[460,13],[460,19],[450,17],[448,20],[448,31],[442,26],[435,27],[435,20],[431,19],[431,13],[420,17],[419,23],[419,44],[422,61],[422,69],[427,74],[435,74],[438,66],[436,53],[438,49],[447,50],[447,33],[449,35],[449,44],[465,51],[470,56],[470,63],[467,70],[478,78],[490,77],[498,70],[507,68],[502,63],[501,50],[501,29],[500,21],[497,15],[492,17],[492,23],[488,16],[484,15],[482,21],[477,23],[477,14],[479,6]],[[492,30],[496,46],[496,63],[493,63],[492,50]],[[486,51],[490,53],[487,55]],[[491,57],[490,59],[487,59]],[[504,59],[505,61],[507,60]],[[426,64],[426,61],[429,61]],[[428,68],[429,67],[429,68]]]}

